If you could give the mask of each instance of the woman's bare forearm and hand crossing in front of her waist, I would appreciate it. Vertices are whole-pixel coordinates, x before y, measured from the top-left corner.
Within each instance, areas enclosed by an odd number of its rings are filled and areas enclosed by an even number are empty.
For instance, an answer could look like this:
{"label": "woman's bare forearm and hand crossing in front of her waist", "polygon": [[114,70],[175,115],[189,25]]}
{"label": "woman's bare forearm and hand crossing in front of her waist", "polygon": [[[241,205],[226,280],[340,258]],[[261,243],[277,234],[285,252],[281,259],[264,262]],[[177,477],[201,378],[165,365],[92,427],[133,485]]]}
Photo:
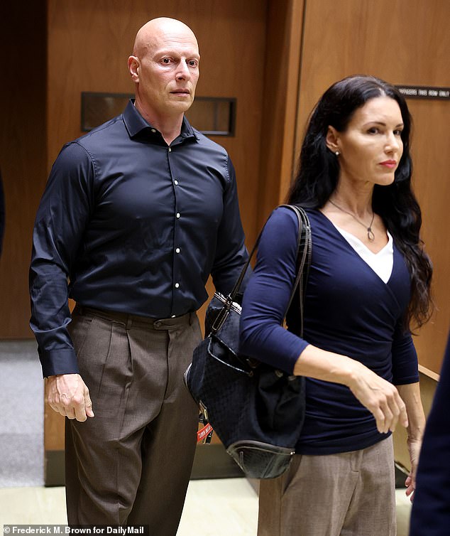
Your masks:
{"label": "woman's bare forearm and hand crossing in front of her waist", "polygon": [[397,422],[408,426],[405,402],[396,387],[346,355],[308,345],[295,363],[294,374],[349,387],[359,402],[373,414],[381,434],[393,432]]}

